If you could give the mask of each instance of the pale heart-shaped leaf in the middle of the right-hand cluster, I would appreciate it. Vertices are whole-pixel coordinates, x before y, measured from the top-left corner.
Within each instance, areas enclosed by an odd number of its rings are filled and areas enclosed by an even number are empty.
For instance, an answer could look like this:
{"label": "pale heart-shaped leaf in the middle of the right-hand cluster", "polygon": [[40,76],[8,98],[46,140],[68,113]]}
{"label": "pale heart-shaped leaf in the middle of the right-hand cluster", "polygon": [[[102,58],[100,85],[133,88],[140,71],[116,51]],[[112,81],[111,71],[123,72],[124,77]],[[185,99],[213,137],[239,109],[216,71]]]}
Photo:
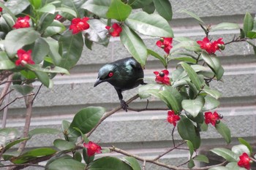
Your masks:
{"label": "pale heart-shaped leaf in the middle of the right-hand cluster", "polygon": [[191,100],[183,100],[181,102],[182,108],[189,112],[193,117],[197,117],[198,113],[201,112],[204,105],[204,99],[201,96],[197,96],[197,98]]}

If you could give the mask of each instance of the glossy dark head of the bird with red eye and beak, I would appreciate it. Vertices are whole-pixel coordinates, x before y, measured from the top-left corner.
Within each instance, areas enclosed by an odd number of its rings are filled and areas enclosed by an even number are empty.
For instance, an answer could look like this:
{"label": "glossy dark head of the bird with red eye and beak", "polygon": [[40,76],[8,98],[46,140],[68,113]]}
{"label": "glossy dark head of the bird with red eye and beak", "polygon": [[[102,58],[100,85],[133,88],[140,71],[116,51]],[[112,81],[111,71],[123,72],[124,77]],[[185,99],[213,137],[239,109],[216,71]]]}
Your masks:
{"label": "glossy dark head of the bird with red eye and beak", "polygon": [[115,71],[112,64],[106,64],[99,69],[98,79],[94,83],[94,87],[99,85],[102,82],[110,82],[114,77]]}

